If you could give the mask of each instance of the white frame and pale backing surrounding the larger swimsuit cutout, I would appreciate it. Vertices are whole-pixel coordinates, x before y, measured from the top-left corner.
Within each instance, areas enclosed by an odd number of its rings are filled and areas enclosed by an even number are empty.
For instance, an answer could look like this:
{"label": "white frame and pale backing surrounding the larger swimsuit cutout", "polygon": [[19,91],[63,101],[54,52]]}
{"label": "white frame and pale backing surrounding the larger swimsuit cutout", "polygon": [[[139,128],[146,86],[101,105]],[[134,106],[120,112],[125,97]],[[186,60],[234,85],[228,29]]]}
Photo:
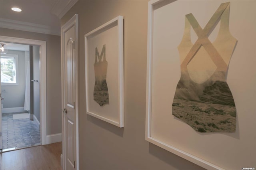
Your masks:
{"label": "white frame and pale backing surrounding the larger swimsuit cutout", "polygon": [[[229,30],[238,44],[229,63],[227,83],[236,103],[236,131],[202,134],[172,115],[172,101],[180,79],[177,47],[182,40],[185,15],[194,14],[204,28],[218,6],[225,2],[154,0],[148,3],[145,139],[208,170],[255,166],[255,159],[249,155],[256,150],[256,134],[250,125],[256,119],[253,86],[256,68],[252,64],[256,57],[256,23],[253,22],[256,12],[252,6],[256,2],[230,1]],[[216,28],[209,37],[211,41],[218,35],[219,26]],[[191,39],[192,42],[197,39],[193,32]]]}

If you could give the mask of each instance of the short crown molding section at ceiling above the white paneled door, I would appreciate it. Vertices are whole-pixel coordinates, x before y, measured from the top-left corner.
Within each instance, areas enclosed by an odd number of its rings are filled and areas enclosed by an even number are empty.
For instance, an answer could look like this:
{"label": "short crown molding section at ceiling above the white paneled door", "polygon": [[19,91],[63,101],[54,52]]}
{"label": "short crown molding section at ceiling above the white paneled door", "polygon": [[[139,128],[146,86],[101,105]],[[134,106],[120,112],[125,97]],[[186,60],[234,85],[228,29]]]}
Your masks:
{"label": "short crown molding section at ceiling above the white paneled door", "polygon": [[76,4],[78,0],[58,0],[51,9],[51,13],[61,19]]}

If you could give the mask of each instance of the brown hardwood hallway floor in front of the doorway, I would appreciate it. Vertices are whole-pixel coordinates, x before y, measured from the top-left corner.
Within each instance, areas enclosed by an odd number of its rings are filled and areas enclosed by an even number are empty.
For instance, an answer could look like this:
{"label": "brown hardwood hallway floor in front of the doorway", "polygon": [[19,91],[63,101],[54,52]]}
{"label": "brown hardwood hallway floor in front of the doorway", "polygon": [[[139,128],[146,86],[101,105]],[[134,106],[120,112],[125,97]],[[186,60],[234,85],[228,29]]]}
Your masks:
{"label": "brown hardwood hallway floor in front of the doorway", "polygon": [[0,154],[0,170],[61,170],[62,142]]}

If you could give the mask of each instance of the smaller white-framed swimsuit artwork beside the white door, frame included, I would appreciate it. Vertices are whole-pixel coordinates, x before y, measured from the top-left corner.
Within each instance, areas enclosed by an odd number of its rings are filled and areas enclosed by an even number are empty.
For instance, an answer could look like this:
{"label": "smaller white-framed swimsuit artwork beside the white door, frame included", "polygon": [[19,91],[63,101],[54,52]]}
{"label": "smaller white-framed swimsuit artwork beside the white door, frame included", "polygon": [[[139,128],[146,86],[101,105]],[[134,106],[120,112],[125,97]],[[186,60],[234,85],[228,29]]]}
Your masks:
{"label": "smaller white-framed swimsuit artwork beside the white door, frame included", "polygon": [[118,16],[84,36],[86,113],[118,127],[124,127],[123,30]]}

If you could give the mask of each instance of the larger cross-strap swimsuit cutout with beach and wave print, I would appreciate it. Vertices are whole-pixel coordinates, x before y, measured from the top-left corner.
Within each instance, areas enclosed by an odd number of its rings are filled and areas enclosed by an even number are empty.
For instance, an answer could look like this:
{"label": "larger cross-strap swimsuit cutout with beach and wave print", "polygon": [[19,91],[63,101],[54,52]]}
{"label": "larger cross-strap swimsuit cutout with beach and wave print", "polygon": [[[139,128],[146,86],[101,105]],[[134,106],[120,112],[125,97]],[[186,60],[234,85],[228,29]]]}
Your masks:
{"label": "larger cross-strap swimsuit cutout with beach and wave print", "polygon": [[[220,4],[204,29],[193,14],[185,16],[178,46],[181,77],[172,103],[174,117],[199,132],[235,132],[236,107],[226,74],[237,40],[229,32],[230,2]],[[218,36],[208,36],[220,22]],[[198,36],[193,44],[190,28]]]}

